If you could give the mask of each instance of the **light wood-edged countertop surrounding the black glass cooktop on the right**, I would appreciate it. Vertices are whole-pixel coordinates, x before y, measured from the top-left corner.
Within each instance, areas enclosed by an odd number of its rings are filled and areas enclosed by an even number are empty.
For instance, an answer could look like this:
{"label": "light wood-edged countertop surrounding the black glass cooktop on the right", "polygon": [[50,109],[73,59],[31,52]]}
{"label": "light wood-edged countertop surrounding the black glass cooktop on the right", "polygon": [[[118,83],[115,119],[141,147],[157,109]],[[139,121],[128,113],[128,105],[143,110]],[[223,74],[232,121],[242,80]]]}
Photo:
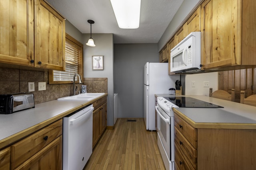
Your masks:
{"label": "light wood-edged countertop surrounding the black glass cooktop on the right", "polygon": [[[168,94],[156,94],[156,96],[171,97]],[[212,98],[209,96],[185,96],[191,97],[224,108],[174,108],[183,119],[195,128],[225,128],[225,129],[256,129],[256,107]]]}

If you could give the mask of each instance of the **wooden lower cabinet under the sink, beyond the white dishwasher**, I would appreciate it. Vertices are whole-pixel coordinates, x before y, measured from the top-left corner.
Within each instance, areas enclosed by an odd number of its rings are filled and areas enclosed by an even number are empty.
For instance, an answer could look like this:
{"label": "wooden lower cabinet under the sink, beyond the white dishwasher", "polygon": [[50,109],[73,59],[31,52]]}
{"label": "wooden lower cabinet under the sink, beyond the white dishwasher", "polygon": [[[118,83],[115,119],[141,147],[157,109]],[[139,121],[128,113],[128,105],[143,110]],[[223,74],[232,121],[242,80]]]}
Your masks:
{"label": "wooden lower cabinet under the sink, beyond the white dishwasher", "polygon": [[94,107],[92,117],[92,148],[94,148],[107,127],[107,96],[92,104]]}

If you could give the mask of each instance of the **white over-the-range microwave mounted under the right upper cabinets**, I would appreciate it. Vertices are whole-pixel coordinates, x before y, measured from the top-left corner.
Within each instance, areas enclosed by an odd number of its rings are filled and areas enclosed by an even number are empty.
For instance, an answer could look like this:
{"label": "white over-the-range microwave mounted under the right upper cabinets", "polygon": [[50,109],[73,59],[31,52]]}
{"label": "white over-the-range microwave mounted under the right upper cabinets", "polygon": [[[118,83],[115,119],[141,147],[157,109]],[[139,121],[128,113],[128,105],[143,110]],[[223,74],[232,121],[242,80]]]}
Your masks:
{"label": "white over-the-range microwave mounted under the right upper cabinets", "polygon": [[175,73],[202,71],[201,32],[192,32],[171,49],[170,70]]}

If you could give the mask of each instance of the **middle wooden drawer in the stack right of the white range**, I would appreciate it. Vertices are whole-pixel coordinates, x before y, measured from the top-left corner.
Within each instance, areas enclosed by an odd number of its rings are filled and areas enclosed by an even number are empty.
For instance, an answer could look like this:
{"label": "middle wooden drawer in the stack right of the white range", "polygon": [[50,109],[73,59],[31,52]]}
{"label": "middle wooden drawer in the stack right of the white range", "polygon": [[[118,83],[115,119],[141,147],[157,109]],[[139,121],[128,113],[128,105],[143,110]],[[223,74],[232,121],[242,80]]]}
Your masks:
{"label": "middle wooden drawer in the stack right of the white range", "polygon": [[177,127],[174,127],[175,142],[179,145],[184,155],[188,158],[192,166],[196,168],[197,150],[188,142],[188,140],[180,133]]}

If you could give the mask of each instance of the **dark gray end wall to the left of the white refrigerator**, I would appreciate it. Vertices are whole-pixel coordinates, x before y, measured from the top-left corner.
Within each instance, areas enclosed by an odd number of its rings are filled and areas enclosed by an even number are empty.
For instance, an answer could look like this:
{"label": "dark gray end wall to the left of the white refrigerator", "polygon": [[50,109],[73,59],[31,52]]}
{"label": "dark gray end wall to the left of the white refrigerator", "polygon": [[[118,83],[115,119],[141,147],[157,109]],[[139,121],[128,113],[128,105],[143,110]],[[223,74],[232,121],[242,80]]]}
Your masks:
{"label": "dark gray end wall to the left of the white refrigerator", "polygon": [[143,72],[146,62],[159,62],[154,44],[114,44],[114,93],[118,118],[143,117]]}

